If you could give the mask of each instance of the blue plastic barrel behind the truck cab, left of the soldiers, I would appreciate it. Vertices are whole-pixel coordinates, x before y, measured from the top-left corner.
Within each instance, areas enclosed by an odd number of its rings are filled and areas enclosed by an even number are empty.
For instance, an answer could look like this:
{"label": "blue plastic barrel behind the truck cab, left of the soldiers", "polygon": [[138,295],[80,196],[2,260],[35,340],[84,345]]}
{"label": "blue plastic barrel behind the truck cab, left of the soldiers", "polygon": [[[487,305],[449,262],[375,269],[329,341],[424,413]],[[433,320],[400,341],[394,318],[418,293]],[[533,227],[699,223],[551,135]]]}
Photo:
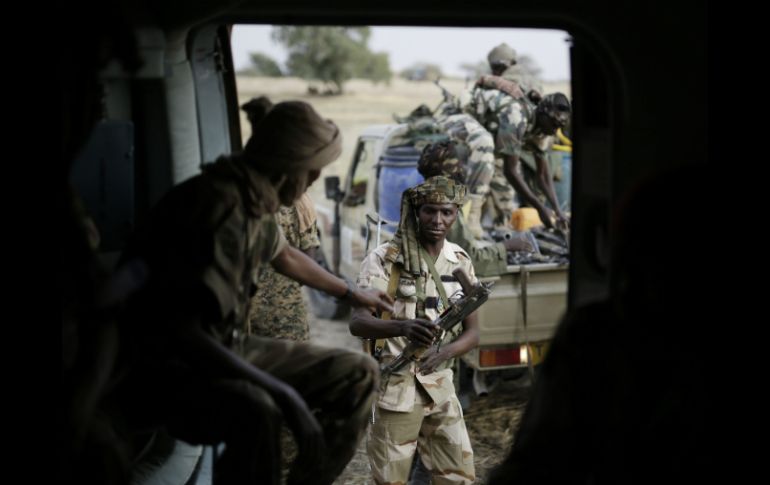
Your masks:
{"label": "blue plastic barrel behind the truck cab, left of the soldiers", "polygon": [[386,221],[401,219],[401,193],[425,179],[417,171],[420,151],[411,146],[392,147],[379,163],[377,212]]}

